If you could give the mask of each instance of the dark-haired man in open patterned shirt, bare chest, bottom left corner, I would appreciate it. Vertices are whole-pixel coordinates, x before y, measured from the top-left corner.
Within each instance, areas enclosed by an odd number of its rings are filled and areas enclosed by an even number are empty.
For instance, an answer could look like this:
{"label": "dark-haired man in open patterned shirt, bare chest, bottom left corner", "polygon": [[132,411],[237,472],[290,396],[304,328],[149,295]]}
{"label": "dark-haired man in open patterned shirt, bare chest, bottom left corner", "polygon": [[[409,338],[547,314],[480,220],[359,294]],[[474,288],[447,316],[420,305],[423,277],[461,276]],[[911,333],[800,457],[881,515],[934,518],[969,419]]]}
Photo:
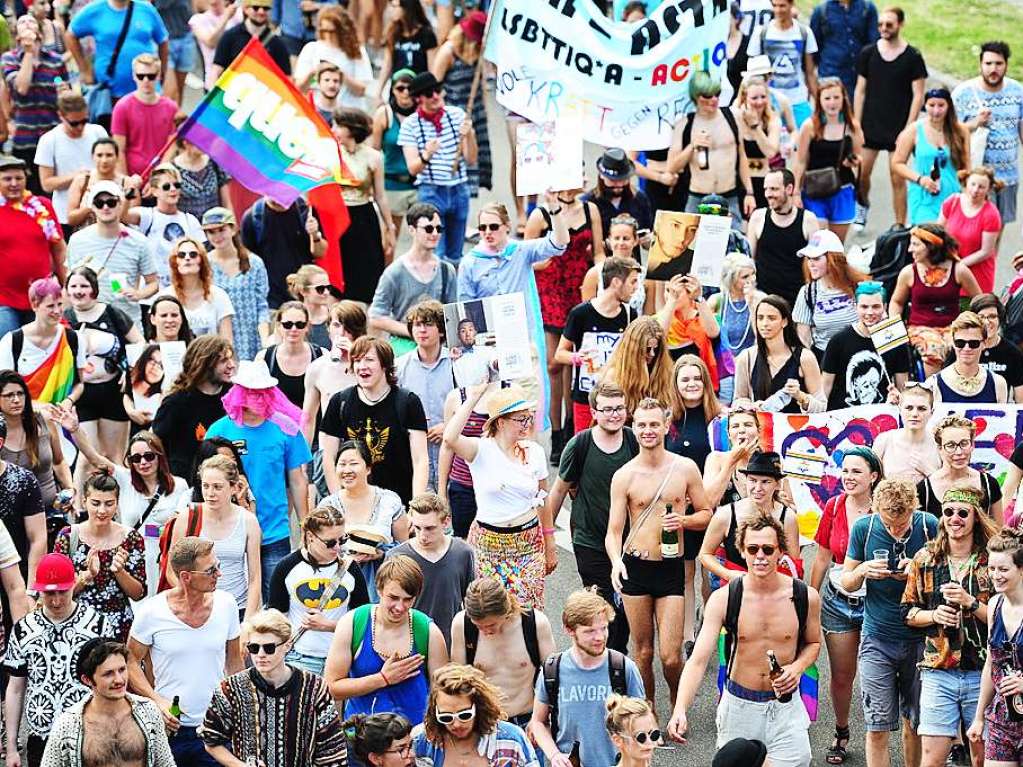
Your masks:
{"label": "dark-haired man in open patterned shirt, bare chest, bottom left corner", "polygon": [[76,672],[91,694],[61,714],[43,764],[59,767],[174,767],[164,717],[149,700],[128,693],[128,647],[109,639],[82,645]]}

